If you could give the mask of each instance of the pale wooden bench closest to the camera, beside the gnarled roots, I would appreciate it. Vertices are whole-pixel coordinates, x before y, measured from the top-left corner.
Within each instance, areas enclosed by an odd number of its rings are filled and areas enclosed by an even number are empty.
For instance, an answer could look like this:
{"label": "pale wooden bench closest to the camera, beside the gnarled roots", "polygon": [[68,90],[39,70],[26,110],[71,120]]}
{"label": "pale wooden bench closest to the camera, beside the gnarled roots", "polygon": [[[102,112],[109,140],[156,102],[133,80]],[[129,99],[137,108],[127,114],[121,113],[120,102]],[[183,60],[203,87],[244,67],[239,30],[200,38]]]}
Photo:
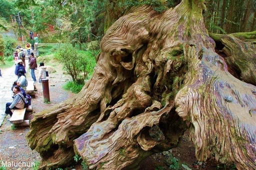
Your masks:
{"label": "pale wooden bench closest to the camera, beside the gnarled roots", "polygon": [[32,106],[29,105],[27,108],[14,109],[9,121],[12,124],[19,124],[24,121],[24,116],[26,111],[32,111]]}

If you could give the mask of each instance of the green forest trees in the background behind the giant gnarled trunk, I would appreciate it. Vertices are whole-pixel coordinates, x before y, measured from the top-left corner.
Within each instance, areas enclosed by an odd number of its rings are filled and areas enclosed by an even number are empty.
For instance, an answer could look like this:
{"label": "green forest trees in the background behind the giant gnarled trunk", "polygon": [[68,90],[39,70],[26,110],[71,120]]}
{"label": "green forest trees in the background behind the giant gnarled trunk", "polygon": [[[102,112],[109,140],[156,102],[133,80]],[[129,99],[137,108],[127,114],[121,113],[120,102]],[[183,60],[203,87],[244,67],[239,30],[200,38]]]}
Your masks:
{"label": "green forest trees in the background behind the giant gnarled trunk", "polygon": [[[40,42],[83,43],[100,40],[107,28],[134,6],[147,4],[162,12],[180,0],[1,0],[0,31],[13,30],[26,41],[29,31]],[[205,27],[212,33],[256,29],[256,0],[205,0]],[[8,9],[8,10],[6,10]],[[0,51],[2,51],[0,49]],[[7,52],[7,51],[5,51]],[[5,56],[9,53],[5,53]]]}

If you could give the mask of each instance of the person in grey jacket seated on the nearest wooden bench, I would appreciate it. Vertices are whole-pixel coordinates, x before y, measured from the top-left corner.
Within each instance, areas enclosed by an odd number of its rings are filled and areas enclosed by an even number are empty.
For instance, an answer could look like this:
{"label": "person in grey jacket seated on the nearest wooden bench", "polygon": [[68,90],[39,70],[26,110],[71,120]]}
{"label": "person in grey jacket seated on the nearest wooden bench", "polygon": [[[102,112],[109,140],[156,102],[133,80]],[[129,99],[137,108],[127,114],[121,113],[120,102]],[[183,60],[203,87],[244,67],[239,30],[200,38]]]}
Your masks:
{"label": "person in grey jacket seated on the nearest wooden bench", "polygon": [[[23,94],[21,93],[21,90],[19,86],[15,85],[13,87],[13,92],[14,92],[14,98],[12,102],[7,102],[5,105],[5,114],[2,113],[2,115],[7,115],[9,114],[10,116],[12,115],[11,109],[22,109],[25,106],[25,98]],[[7,119],[9,121],[9,119]]]}

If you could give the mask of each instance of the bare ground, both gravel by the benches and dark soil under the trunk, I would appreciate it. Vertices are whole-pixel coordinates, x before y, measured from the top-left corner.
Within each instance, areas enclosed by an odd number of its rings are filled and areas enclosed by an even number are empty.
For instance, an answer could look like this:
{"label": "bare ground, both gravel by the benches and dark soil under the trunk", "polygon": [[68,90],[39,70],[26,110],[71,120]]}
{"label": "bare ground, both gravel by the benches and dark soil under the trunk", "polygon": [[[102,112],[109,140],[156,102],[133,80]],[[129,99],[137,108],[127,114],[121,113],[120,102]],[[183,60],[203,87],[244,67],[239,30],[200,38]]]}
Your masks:
{"label": "bare ground, both gravel by the benches and dark soil under the trunk", "polygon": [[[43,92],[42,85],[38,82],[36,83],[37,92],[32,98],[33,112],[25,115],[25,119],[32,119],[35,112],[40,112],[44,108],[50,107],[56,103],[64,101],[66,98],[74,95],[73,93],[66,91],[62,88],[62,85],[70,79],[70,77],[63,73],[61,66],[55,67],[56,72],[50,73],[49,76],[49,93],[50,93],[50,103],[43,102]],[[4,72],[4,69],[2,70]],[[35,72],[36,73],[36,72]],[[27,74],[27,78],[30,75]],[[8,116],[6,116],[9,118]],[[7,162],[39,162],[40,155],[35,151],[31,150],[27,145],[25,135],[29,131],[29,127],[17,127],[12,129],[10,122],[3,121],[0,127],[0,160]],[[168,156],[173,155],[178,159],[180,165],[177,169],[185,169],[181,166],[184,164],[190,169],[222,169],[216,166],[216,163],[206,162],[205,167],[194,166],[195,163],[195,147],[192,141],[188,138],[188,132],[184,134],[181,143],[178,147],[168,150]],[[166,160],[168,159],[168,160]],[[150,169],[171,169],[171,163],[169,157],[166,157],[164,153],[157,153],[144,159],[140,164],[141,170]],[[173,166],[172,166],[173,167]],[[0,168],[1,169],[1,168]],[[7,169],[18,169],[17,167],[7,167]],[[22,167],[21,169],[32,169],[28,167]],[[63,168],[64,169],[64,168]],[[72,168],[68,169],[82,169],[81,165],[74,165]],[[172,168],[174,169],[174,168]],[[226,168],[227,169],[227,168]]]}

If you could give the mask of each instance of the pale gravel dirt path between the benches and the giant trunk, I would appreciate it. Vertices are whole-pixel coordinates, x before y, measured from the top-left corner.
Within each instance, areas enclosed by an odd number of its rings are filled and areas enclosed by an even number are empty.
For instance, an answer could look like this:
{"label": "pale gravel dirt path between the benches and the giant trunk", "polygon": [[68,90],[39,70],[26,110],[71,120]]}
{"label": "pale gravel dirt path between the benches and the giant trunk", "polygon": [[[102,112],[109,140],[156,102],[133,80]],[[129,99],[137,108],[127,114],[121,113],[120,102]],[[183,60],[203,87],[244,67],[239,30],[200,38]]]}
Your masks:
{"label": "pale gravel dirt path between the benches and the giant trunk", "polygon": [[[43,102],[42,84],[36,83],[37,92],[31,100],[33,112],[25,115],[25,119],[32,119],[33,114],[40,112],[42,109],[64,101],[66,98],[73,95],[73,93],[63,90],[62,85],[69,80],[69,76],[63,74],[63,71],[56,67],[56,72],[49,75],[49,95],[50,103]],[[8,68],[1,69],[2,75],[7,77],[12,73]],[[38,70],[35,70],[37,76]],[[30,72],[26,73],[26,78],[31,79]],[[11,84],[10,84],[11,85]],[[9,96],[11,98],[11,95]],[[7,166],[6,169],[31,169],[31,165],[40,161],[40,155],[31,150],[27,145],[25,135],[29,131],[29,127],[17,127],[15,130],[11,128],[11,124],[5,117],[0,127],[0,167]],[[15,167],[16,166],[16,167]]]}

